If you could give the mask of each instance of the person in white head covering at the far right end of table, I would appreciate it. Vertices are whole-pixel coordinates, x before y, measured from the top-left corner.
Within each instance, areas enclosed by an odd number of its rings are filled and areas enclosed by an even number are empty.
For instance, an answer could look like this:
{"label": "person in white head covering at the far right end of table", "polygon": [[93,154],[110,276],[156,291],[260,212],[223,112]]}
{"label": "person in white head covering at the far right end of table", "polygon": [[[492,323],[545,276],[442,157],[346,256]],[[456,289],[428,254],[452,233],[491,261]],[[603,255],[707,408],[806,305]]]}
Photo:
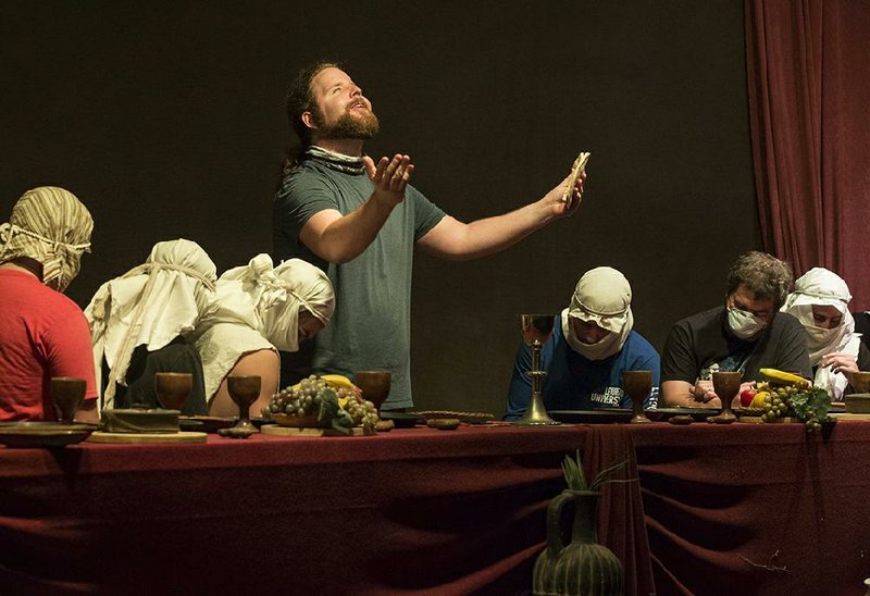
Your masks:
{"label": "person in white head covering at the far right end of table", "polygon": [[834,401],[843,401],[853,373],[870,370],[870,350],[855,333],[849,300],[846,282],[817,266],[795,282],[795,290],[781,309],[804,325],[812,384],[828,390]]}

